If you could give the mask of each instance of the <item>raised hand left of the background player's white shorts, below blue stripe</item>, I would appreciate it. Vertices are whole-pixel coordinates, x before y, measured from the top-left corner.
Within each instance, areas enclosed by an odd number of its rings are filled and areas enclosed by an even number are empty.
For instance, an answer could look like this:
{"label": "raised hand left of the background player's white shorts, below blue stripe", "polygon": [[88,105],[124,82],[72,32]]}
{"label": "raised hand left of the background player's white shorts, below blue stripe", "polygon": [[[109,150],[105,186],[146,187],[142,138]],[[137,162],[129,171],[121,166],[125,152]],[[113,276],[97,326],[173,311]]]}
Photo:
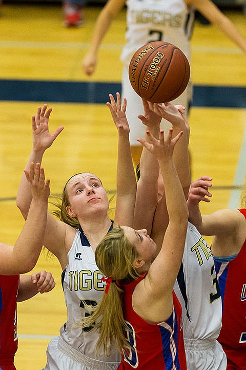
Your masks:
{"label": "raised hand left of the background player's white shorts, below blue stripe", "polygon": [[110,102],[107,102],[107,106],[110,109],[113,121],[119,132],[119,134],[129,134],[130,128],[126,117],[127,100],[124,98],[123,104],[121,105],[120,94],[116,93],[116,102],[112,94],[109,94]]}

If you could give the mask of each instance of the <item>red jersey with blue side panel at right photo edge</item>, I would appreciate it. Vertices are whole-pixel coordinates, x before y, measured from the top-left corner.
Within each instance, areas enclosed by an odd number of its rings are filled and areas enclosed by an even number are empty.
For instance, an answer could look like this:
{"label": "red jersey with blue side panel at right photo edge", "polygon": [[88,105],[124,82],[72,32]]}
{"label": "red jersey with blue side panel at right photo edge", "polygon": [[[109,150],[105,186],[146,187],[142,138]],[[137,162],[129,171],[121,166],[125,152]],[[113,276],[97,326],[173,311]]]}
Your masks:
{"label": "red jersey with blue side panel at right photo edge", "polygon": [[[239,210],[246,218],[246,209]],[[218,341],[222,344],[228,364],[235,369],[246,368],[246,240],[240,252],[229,262],[215,267],[222,296],[222,329]],[[229,367],[230,368],[230,367]]]}

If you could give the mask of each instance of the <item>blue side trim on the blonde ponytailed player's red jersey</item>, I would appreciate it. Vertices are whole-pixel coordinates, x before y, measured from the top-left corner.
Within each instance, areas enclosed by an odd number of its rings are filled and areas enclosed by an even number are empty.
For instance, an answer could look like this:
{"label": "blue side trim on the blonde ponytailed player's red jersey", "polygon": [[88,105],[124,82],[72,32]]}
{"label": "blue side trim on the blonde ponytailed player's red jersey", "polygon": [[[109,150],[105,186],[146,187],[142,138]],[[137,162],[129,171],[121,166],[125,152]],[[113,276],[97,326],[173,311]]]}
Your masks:
{"label": "blue side trim on the blonde ponytailed player's red jersey", "polygon": [[[168,325],[170,325],[170,327],[172,328],[172,332],[174,333],[173,339],[174,339],[174,343],[175,343],[175,347],[176,347],[176,355],[175,355],[174,362],[173,362],[173,355],[172,355],[171,348],[170,348],[170,339],[167,338],[167,333],[170,334],[170,336],[171,336],[171,333],[169,332],[168,329],[166,329],[165,327],[163,327],[161,325],[159,325],[159,329],[160,329],[160,334],[161,334],[161,339],[162,339],[162,346],[163,346],[162,356],[163,356],[163,360],[164,360],[164,363],[165,363],[165,367],[167,369],[172,369],[173,368],[173,363],[174,363],[175,366],[176,366],[176,369],[180,370],[180,364],[179,364],[179,359],[178,359],[178,332],[179,332],[179,328],[178,328],[178,321],[177,321],[177,317],[176,317],[176,311],[174,311],[174,312],[175,312],[174,321],[173,321],[173,313],[168,318],[168,320],[166,320],[166,323]],[[168,346],[166,345],[167,342],[168,342]]]}

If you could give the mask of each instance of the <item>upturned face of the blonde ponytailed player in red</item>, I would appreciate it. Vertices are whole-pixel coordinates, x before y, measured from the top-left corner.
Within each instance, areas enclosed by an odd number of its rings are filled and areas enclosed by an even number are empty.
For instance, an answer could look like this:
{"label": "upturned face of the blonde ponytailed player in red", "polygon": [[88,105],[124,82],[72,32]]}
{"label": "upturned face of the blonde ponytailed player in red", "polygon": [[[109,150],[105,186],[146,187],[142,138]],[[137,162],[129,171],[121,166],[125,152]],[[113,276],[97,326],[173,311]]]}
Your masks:
{"label": "upturned face of the blonde ponytailed player in red", "polygon": [[122,227],[130,243],[136,248],[138,256],[149,266],[157,255],[157,247],[146,229],[134,230],[130,227]]}

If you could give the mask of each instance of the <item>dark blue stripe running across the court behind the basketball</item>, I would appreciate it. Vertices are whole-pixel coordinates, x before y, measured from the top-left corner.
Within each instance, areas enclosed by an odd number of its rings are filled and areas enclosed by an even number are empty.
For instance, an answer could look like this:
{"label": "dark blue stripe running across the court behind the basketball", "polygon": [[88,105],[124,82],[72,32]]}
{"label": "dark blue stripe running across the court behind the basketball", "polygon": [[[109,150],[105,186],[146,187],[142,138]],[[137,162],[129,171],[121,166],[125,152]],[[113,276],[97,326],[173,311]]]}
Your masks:
{"label": "dark blue stripe running across the court behind the basketball", "polygon": [[[0,80],[0,100],[104,104],[120,83]],[[246,88],[194,86],[193,106],[246,108]]]}

